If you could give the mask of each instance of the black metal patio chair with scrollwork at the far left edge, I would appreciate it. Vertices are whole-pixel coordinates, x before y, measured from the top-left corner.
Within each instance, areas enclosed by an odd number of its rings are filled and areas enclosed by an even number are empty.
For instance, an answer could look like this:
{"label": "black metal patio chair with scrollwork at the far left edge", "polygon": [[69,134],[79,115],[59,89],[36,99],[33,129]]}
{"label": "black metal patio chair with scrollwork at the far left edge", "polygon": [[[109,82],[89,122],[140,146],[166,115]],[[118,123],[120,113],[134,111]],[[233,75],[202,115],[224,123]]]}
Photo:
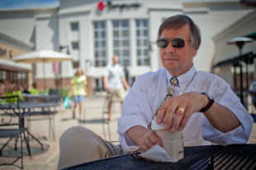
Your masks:
{"label": "black metal patio chair with scrollwork at the far left edge", "polygon": [[[12,161],[12,163],[2,163],[1,166],[14,165],[18,168],[23,169],[23,138],[26,140],[26,146],[28,152],[30,148],[28,145],[28,140],[26,138],[26,127],[21,121],[24,119],[24,115],[20,112],[20,101],[18,96],[10,97],[0,97],[0,138],[8,138],[7,142],[2,145],[0,149],[0,156],[3,157],[2,151],[4,148],[8,147],[9,149],[14,149],[17,158]],[[18,140],[21,140],[21,150],[17,149]],[[14,148],[10,145],[10,141],[15,140]],[[21,166],[18,166],[16,163],[21,159]]]}

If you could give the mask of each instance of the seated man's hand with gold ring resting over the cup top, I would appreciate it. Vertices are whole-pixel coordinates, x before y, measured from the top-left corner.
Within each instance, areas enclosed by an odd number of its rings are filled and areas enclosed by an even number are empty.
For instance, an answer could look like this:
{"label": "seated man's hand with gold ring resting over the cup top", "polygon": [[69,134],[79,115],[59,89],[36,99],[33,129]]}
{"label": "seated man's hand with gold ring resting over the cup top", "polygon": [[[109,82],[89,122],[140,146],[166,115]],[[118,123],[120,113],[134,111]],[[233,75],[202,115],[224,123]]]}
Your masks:
{"label": "seated man's hand with gold ring resting over the cup top", "polygon": [[197,92],[173,96],[159,108],[157,123],[164,122],[164,129],[171,132],[182,131],[192,113],[199,112],[208,101],[205,95]]}

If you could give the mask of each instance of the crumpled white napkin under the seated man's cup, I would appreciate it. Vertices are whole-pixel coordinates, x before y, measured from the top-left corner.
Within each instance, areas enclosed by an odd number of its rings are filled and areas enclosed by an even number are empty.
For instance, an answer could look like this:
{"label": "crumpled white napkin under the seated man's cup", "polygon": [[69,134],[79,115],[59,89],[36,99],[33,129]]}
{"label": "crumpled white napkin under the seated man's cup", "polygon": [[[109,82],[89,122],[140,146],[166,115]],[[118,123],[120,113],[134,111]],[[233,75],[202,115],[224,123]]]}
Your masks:
{"label": "crumpled white napkin under the seated man's cup", "polygon": [[142,157],[146,160],[152,160],[154,162],[178,162],[177,159],[169,157],[166,151],[159,145],[154,145],[152,148],[148,149],[144,154],[137,154],[137,157]]}

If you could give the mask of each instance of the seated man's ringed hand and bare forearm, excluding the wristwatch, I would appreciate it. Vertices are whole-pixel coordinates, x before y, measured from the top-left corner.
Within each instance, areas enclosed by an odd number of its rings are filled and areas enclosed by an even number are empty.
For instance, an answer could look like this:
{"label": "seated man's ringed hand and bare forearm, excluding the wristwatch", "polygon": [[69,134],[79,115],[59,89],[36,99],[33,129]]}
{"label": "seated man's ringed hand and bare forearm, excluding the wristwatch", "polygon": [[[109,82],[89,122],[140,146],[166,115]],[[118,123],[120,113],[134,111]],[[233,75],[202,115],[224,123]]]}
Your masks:
{"label": "seated man's ringed hand and bare forearm, excluding the wristwatch", "polygon": [[[173,96],[159,108],[157,123],[164,122],[164,129],[171,132],[182,131],[192,114],[199,112],[201,108],[205,108],[207,103],[209,103],[207,96],[197,92]],[[173,114],[175,114],[174,118]],[[235,114],[229,108],[216,102],[203,114],[211,123],[211,126],[223,133],[240,126]]]}

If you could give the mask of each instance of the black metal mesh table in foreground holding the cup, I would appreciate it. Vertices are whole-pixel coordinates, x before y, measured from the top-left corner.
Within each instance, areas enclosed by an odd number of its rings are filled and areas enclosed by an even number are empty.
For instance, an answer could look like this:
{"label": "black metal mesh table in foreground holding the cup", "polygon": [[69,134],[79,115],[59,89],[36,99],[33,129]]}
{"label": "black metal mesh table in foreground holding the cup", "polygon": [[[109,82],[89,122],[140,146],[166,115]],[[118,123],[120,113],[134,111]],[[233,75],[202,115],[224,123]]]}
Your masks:
{"label": "black metal mesh table in foreground holding the cup", "polygon": [[66,169],[256,169],[256,145],[185,147],[184,159],[178,163],[155,163],[126,154]]}

